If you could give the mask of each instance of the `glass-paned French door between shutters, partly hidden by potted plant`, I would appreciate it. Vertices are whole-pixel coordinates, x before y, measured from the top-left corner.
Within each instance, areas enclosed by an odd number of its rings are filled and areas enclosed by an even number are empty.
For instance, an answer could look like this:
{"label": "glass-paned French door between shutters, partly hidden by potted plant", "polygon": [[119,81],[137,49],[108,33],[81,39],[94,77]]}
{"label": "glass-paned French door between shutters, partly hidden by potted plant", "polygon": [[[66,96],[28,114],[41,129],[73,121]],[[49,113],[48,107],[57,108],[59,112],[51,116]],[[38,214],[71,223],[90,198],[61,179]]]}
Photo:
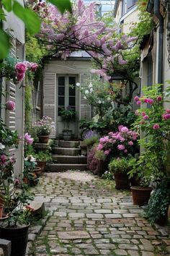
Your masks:
{"label": "glass-paned French door between shutters, partly hidden by potted plant", "polygon": [[[67,108],[71,106],[76,111],[76,116],[78,116],[78,92],[76,91],[76,82],[78,80],[77,75],[72,74],[57,74],[57,137],[61,137],[64,123],[61,119],[60,111],[62,108]],[[73,137],[78,136],[78,124],[76,121],[71,121],[70,129],[73,132]]]}

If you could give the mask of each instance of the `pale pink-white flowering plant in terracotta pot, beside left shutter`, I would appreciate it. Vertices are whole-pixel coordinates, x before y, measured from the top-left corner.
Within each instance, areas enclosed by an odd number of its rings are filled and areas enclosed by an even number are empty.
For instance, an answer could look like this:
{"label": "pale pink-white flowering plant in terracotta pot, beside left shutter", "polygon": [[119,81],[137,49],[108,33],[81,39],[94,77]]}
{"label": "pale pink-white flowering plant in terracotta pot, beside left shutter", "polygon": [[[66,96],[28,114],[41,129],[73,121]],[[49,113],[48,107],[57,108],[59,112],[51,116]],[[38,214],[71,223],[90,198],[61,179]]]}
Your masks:
{"label": "pale pink-white flowering plant in terracotta pot, beside left shutter", "polygon": [[48,143],[50,132],[53,129],[53,122],[49,116],[43,116],[40,121],[33,124],[40,143]]}

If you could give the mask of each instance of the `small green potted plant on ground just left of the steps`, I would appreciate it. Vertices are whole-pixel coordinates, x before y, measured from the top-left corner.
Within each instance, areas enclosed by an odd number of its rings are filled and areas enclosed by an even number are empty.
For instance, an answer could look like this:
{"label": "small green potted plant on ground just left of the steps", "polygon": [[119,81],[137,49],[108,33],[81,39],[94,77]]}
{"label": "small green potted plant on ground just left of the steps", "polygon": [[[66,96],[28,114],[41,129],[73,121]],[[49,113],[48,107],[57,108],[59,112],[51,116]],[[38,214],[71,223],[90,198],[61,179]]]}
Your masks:
{"label": "small green potted plant on ground just left of the steps", "polygon": [[45,164],[52,160],[51,154],[49,150],[44,151],[38,151],[38,153],[35,155],[37,167],[41,168],[41,171],[43,172],[45,169]]}

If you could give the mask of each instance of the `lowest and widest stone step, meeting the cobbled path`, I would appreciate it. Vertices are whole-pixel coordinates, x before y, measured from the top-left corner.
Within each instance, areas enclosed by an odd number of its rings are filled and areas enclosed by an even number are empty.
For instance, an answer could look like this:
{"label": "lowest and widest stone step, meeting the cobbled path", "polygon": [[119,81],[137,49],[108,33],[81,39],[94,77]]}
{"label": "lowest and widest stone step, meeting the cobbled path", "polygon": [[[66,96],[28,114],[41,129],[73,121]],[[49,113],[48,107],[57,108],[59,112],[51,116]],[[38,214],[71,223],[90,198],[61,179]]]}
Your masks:
{"label": "lowest and widest stone step, meeting the cobbled path", "polygon": [[50,163],[48,165],[48,171],[58,172],[58,171],[68,171],[68,170],[79,170],[86,171],[87,165],[81,163]]}

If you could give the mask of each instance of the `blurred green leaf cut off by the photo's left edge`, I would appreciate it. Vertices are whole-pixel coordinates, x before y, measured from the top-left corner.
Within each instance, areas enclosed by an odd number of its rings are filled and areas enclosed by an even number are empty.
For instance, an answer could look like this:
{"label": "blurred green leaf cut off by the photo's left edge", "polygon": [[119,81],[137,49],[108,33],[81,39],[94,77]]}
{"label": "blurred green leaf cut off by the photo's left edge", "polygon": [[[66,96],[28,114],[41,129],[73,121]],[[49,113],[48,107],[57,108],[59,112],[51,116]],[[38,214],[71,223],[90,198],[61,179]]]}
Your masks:
{"label": "blurred green leaf cut off by the photo's left edge", "polygon": [[0,29],[0,59],[4,59],[9,53],[9,35]]}

